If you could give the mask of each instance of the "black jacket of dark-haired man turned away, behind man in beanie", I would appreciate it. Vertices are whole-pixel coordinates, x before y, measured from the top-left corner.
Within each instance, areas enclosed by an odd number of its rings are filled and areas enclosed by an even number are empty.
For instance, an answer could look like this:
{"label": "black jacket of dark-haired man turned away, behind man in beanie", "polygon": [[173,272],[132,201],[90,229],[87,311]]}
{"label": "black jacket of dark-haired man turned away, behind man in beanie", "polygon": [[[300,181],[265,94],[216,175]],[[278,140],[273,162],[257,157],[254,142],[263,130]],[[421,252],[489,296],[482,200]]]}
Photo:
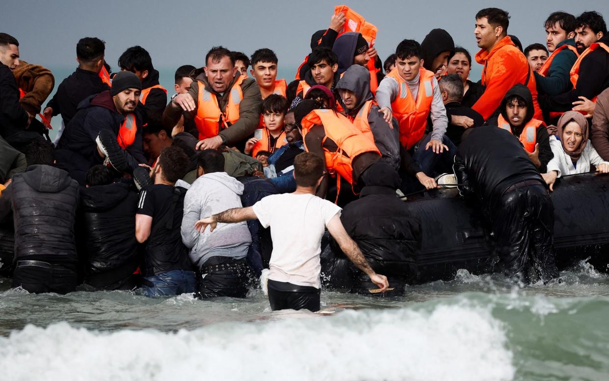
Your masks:
{"label": "black jacket of dark-haired man turned away, behind man in beanie", "polygon": [[53,109],[53,116],[61,114],[63,124],[68,126],[69,121],[76,115],[80,102],[104,90],[110,90],[110,87],[102,81],[99,74],[77,68],[62,81],[57,93],[46,106]]}

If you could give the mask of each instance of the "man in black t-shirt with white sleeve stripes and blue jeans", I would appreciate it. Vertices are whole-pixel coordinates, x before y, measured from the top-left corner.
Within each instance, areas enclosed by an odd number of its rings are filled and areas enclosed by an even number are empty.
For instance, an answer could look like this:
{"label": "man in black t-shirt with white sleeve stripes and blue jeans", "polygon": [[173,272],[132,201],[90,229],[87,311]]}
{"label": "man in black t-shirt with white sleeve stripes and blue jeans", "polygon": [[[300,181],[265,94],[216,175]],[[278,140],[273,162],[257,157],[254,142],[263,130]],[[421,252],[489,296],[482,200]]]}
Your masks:
{"label": "man in black t-shirt with white sleeve stripes and blue jeans", "polygon": [[186,189],[175,182],[186,174],[188,156],[179,147],[161,151],[150,171],[153,185],[139,194],[135,237],[144,246],[143,294],[149,297],[192,293],[196,277],[180,237]]}

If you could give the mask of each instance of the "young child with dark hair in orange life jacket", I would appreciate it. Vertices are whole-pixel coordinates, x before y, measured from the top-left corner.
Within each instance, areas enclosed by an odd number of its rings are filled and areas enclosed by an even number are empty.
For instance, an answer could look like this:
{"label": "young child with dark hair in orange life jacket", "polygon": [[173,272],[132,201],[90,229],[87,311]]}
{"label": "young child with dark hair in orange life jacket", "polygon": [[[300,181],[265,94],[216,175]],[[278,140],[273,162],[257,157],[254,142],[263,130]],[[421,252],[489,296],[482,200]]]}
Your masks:
{"label": "young child with dark hair in orange life jacket", "polygon": [[258,151],[269,151],[272,154],[287,143],[283,131],[287,105],[286,97],[278,94],[270,94],[262,101],[262,123],[254,131],[254,137],[245,143],[245,154],[252,157],[256,157]]}

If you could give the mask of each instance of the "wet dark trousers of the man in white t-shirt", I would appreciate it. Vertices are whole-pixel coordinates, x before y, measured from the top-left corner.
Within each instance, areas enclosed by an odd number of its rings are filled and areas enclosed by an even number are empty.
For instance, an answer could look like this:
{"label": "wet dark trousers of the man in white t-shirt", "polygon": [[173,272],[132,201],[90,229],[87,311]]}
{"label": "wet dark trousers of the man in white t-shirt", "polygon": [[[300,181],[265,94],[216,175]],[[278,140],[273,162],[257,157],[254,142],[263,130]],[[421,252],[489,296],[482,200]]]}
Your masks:
{"label": "wet dark trousers of the man in white t-shirt", "polygon": [[269,279],[269,304],[277,310],[319,311],[320,290],[315,287],[293,285]]}

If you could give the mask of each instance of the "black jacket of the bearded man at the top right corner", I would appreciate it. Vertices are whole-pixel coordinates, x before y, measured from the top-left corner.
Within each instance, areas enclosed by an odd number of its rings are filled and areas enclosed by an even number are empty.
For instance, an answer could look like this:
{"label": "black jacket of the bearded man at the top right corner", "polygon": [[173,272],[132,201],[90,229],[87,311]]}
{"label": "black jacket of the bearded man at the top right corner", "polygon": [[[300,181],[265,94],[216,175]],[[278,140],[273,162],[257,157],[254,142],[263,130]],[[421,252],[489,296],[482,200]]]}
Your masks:
{"label": "black jacket of the bearded man at the top right corner", "polygon": [[[609,46],[609,34],[597,42]],[[576,87],[566,93],[540,98],[544,112],[566,112],[573,108],[573,102],[580,101],[580,96],[593,99],[609,88],[609,53],[599,48],[580,62],[579,78]]]}

